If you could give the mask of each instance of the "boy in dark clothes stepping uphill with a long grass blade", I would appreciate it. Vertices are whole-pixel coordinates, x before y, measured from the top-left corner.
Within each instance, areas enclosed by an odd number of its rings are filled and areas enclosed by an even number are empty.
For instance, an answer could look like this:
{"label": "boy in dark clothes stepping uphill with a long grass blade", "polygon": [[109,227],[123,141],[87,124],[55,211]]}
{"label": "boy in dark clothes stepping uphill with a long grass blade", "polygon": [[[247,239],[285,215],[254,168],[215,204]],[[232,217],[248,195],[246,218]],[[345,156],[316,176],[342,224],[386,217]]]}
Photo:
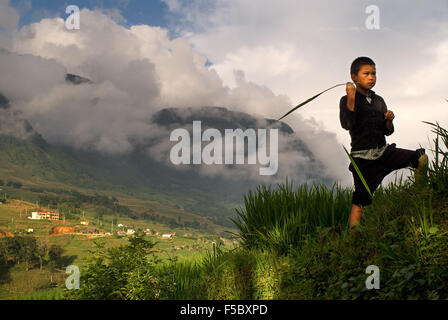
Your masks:
{"label": "boy in dark clothes stepping uphill with a long grass blade", "polygon": [[[384,99],[371,90],[376,83],[375,63],[367,57],[355,59],[350,68],[352,80],[347,82],[347,95],[339,103],[339,118],[344,129],[350,131],[351,156],[361,171],[370,191],[381,184],[385,176],[394,170],[412,166],[416,168],[415,179],[420,183],[426,177],[428,156],[425,149],[406,150],[396,144],[386,144],[386,136],[394,132],[395,115],[387,110]],[[355,192],[350,212],[350,230],[361,222],[363,208],[372,199],[353,165],[348,168],[353,174]]]}

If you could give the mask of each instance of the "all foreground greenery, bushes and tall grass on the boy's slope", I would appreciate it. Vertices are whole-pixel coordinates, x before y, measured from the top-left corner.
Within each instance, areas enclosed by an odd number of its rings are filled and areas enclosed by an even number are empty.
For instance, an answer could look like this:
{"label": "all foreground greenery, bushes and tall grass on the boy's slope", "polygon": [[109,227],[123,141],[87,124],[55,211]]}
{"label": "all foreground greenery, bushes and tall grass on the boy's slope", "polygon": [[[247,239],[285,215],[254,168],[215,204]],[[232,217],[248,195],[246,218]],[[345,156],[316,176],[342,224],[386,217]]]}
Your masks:
{"label": "all foreground greenery, bushes and tall grass on the boy's slope", "polygon": [[[347,227],[351,193],[322,185],[260,186],[245,196],[235,223],[241,245],[213,246],[195,262],[158,263],[154,245],[101,253],[69,298],[103,299],[447,299],[447,132],[439,137],[428,179],[379,188],[363,223]],[[438,139],[443,141],[443,148]],[[139,249],[136,249],[139,248]],[[151,249],[151,250],[150,250]],[[120,269],[125,255],[131,266]],[[380,269],[378,290],[366,268]],[[118,270],[116,270],[118,268]],[[101,277],[114,275],[108,281]],[[111,286],[111,288],[104,288]],[[107,295],[103,293],[107,292]]]}

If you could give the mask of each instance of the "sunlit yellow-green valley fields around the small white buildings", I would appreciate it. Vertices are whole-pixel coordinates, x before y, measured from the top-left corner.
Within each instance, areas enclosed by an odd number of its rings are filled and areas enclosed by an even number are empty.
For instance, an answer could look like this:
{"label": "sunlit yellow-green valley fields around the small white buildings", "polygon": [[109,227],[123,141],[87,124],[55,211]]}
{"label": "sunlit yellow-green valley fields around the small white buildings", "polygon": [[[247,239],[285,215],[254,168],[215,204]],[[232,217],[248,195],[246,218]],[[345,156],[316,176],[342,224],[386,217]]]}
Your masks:
{"label": "sunlit yellow-green valley fields around the small white buildings", "polygon": [[[65,286],[65,268],[77,265],[83,268],[92,258],[97,244],[105,249],[117,248],[128,243],[127,236],[118,236],[117,231],[151,229],[145,236],[157,242],[153,250],[160,261],[196,261],[212,247],[212,241],[223,241],[233,246],[228,239],[219,240],[218,230],[198,230],[187,227],[170,227],[164,223],[127,216],[104,214],[98,219],[98,208],[83,210],[83,215],[73,214],[71,218],[59,221],[29,220],[27,215],[36,210],[35,203],[9,199],[0,203],[0,235],[7,231],[15,237],[0,236],[0,299],[60,299],[63,298]],[[88,228],[94,228],[103,235],[79,234],[87,228],[80,225],[80,220],[89,221]],[[187,220],[188,221],[188,220]],[[201,221],[202,222],[202,221]],[[118,227],[123,224],[127,227]],[[54,227],[73,227],[76,234],[51,234]],[[28,233],[28,229],[33,229]],[[104,235],[111,232],[112,235]],[[162,239],[163,233],[176,233],[173,239]],[[35,239],[24,242],[26,239]],[[49,248],[60,248],[61,257],[57,259],[56,268],[52,267]],[[46,250],[46,252],[45,252]],[[38,256],[43,252],[42,269]],[[37,254],[37,255],[36,255]],[[15,258],[17,256],[17,259]],[[56,260],[55,260],[56,261]]]}

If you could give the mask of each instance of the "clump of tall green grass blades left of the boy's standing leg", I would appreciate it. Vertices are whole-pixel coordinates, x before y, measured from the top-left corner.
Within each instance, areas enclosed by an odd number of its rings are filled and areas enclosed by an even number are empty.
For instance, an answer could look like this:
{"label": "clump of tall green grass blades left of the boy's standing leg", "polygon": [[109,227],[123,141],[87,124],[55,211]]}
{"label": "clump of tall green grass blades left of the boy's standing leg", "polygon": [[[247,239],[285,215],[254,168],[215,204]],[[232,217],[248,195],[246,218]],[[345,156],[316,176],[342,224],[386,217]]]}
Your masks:
{"label": "clump of tall green grass blades left of the boy's standing leg", "polygon": [[265,248],[287,253],[319,228],[344,229],[351,208],[351,191],[337,184],[277,189],[261,185],[244,197],[244,209],[237,209],[234,220],[242,245],[247,249]]}

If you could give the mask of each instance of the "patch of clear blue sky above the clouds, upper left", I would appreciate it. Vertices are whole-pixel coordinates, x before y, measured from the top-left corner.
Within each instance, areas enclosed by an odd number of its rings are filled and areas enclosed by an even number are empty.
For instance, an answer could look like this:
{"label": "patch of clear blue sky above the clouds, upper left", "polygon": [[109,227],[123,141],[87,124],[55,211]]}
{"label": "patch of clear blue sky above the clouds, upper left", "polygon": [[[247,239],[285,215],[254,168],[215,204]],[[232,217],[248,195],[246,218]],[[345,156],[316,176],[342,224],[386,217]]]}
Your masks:
{"label": "patch of clear blue sky above the clouds, upper left", "polygon": [[55,16],[65,18],[67,17],[65,8],[68,5],[77,5],[80,9],[118,9],[126,19],[124,24],[126,26],[147,24],[168,27],[168,7],[159,0],[11,0],[11,4],[21,14],[20,27],[38,22],[43,18]]}

